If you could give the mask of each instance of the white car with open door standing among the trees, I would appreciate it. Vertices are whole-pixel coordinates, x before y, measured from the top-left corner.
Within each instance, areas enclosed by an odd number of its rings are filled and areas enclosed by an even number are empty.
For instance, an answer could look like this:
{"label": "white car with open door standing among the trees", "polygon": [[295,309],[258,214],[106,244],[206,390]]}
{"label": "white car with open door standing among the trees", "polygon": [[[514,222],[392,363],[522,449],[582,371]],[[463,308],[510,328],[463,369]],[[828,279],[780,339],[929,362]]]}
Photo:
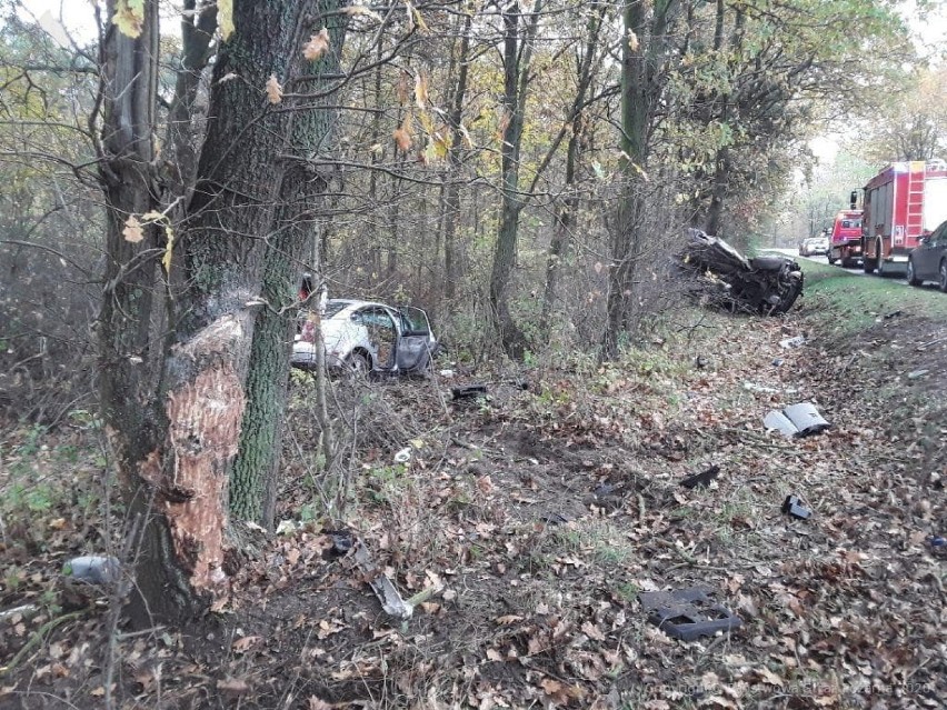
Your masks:
{"label": "white car with open door standing among the trees", "polygon": [[[317,363],[317,313],[300,313],[290,362],[300,369]],[[326,367],[336,371],[418,373],[430,369],[439,349],[428,314],[411,306],[329,299],[321,312]]]}

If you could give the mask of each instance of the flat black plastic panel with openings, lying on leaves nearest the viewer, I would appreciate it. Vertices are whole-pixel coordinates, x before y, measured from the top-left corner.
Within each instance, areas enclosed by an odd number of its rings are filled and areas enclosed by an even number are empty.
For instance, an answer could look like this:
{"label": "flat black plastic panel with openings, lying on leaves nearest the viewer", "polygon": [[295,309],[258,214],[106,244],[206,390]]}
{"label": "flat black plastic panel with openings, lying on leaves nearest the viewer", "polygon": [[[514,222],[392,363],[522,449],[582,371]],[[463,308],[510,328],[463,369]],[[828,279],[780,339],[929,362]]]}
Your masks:
{"label": "flat black plastic panel with openings, lying on leaves nearest the viewer", "polygon": [[677,591],[641,592],[638,601],[648,613],[648,621],[681,641],[738,629],[742,624],[740,618],[710,599],[709,591],[690,587]]}

